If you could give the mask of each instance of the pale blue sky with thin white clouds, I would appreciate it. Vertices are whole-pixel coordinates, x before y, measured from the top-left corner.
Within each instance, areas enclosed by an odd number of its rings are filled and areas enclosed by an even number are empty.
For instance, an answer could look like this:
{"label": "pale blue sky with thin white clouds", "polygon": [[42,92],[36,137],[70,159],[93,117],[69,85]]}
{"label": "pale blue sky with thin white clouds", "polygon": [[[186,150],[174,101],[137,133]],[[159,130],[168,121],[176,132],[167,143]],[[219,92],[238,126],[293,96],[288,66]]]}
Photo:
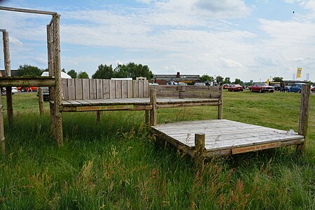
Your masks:
{"label": "pale blue sky with thin white clouds", "polygon": [[[135,62],[155,74],[266,80],[292,79],[297,67],[315,80],[315,1],[307,0],[6,0],[0,6],[49,10],[61,16],[62,68]],[[294,13],[293,13],[294,11]],[[11,69],[47,67],[48,15],[0,10],[9,31]],[[2,43],[0,44],[2,48]],[[0,52],[3,69],[3,51]]]}

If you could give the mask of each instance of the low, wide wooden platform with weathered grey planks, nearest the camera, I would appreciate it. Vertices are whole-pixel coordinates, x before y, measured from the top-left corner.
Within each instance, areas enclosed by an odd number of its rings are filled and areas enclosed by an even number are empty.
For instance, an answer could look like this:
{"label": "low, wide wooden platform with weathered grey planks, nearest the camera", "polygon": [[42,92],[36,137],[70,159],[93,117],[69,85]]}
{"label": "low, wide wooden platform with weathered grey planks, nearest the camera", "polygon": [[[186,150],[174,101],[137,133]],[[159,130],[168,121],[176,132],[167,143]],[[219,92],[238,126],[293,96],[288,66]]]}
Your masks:
{"label": "low, wide wooden platform with weathered grey planks, nearest the camera", "polygon": [[302,144],[304,137],[292,132],[231,120],[201,120],[152,126],[162,139],[193,155],[195,134],[205,134],[207,157],[259,151]]}

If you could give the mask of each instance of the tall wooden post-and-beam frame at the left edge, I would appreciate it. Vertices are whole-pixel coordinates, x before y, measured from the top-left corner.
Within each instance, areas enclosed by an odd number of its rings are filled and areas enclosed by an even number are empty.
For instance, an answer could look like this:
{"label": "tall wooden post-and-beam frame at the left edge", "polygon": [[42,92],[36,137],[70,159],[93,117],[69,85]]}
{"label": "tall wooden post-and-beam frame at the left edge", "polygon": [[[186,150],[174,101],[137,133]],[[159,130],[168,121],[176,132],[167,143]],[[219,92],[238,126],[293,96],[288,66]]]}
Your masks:
{"label": "tall wooden post-and-beam frame at the left edge", "polygon": [[[63,145],[62,139],[62,114],[59,111],[59,107],[62,103],[62,80],[61,80],[61,66],[60,66],[60,35],[59,35],[59,19],[60,15],[55,12],[43,11],[43,10],[29,10],[23,8],[8,8],[0,6],[0,10],[7,10],[21,13],[34,13],[41,15],[52,15],[50,23],[47,25],[47,43],[48,43],[48,77],[11,77],[10,76],[10,55],[8,50],[8,32],[3,32],[3,51],[5,57],[6,76],[0,78],[0,87],[6,87],[7,89],[7,107],[8,107],[8,125],[13,122],[13,103],[12,96],[10,94],[10,87],[13,86],[37,86],[37,87],[50,87],[50,99],[54,101],[54,104],[58,106],[50,107],[51,126],[55,137],[57,138],[57,144]],[[0,101],[1,113],[2,103]],[[0,118],[2,114],[0,115]],[[3,131],[3,118],[0,119],[2,125],[0,125],[0,132]],[[1,145],[2,152],[5,152],[4,147],[4,132],[1,132]]]}

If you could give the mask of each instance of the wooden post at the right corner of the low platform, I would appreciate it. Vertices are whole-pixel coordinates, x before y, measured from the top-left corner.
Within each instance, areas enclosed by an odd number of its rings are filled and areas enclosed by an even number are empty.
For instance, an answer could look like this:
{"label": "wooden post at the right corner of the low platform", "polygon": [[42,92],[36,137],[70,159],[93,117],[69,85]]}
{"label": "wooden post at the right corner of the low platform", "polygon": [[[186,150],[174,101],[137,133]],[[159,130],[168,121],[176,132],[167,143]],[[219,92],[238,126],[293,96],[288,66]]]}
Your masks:
{"label": "wooden post at the right corner of the low platform", "polygon": [[297,146],[298,154],[302,154],[304,152],[305,144],[307,141],[307,127],[309,125],[309,94],[310,93],[311,93],[311,88],[309,87],[309,85],[302,85],[299,134],[304,136],[304,143]]}

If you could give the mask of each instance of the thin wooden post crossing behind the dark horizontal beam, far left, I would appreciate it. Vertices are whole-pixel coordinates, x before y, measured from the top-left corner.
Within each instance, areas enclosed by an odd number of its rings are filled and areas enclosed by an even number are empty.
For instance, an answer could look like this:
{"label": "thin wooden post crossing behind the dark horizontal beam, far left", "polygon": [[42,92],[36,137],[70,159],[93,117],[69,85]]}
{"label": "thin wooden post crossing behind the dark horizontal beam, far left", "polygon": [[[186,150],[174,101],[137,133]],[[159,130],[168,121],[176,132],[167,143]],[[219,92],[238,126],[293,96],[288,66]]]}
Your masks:
{"label": "thin wooden post crossing behind the dark horizontal beam, far left", "polygon": [[[4,69],[6,70],[6,76],[11,76],[8,31],[2,31],[2,33],[3,33]],[[12,101],[12,88],[11,87],[6,87],[6,113],[8,117],[8,125],[10,126],[13,122],[13,101]]]}

